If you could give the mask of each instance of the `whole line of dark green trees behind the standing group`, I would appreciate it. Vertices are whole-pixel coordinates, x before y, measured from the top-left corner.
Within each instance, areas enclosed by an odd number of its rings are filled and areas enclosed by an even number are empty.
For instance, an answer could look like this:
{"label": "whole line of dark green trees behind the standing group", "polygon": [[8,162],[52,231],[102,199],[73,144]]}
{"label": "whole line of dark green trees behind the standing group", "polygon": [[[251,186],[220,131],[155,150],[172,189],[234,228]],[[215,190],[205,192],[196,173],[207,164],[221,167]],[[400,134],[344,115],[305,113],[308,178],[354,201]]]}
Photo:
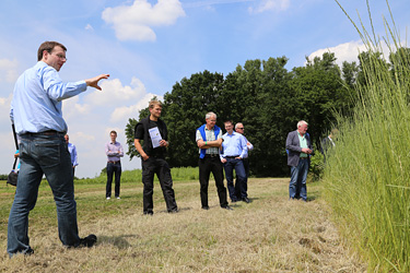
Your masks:
{"label": "whole line of dark green trees behind the standing group", "polygon": [[[409,54],[409,49],[401,48],[397,54]],[[198,165],[196,129],[204,123],[209,111],[218,115],[216,124],[221,128],[225,120],[244,123],[245,135],[254,144],[249,156],[254,176],[289,175],[284,144],[298,120],[308,122],[311,138],[319,147],[336,114],[349,116],[358,102],[355,85],[366,83],[362,68],[368,52],[359,55],[359,63],[344,61],[342,68],[332,52],[313,60],[306,58],[304,67],[292,71],[285,68],[288,60],[284,56],[248,60],[226,76],[206,70],[175,83],[172,92],[164,95],[162,112],[168,128],[166,161],[171,167]],[[388,63],[382,55],[379,60],[390,69],[401,66]],[[133,146],[134,126],[148,116],[145,108],[137,119],[128,120],[127,154],[131,159],[139,156]]]}

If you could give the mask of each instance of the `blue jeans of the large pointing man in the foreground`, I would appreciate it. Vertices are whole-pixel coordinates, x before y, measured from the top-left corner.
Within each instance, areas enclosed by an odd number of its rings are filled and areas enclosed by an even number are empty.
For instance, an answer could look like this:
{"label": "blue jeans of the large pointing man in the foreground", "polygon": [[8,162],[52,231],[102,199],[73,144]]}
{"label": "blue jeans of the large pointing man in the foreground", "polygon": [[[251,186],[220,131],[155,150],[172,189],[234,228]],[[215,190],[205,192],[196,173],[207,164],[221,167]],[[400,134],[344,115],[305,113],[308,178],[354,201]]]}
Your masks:
{"label": "blue jeans of the large pointing man in the foreground", "polygon": [[80,245],[71,157],[62,133],[22,134],[21,168],[8,226],[8,253],[30,253],[28,213],[34,209],[43,175],[57,206],[58,235],[62,245]]}

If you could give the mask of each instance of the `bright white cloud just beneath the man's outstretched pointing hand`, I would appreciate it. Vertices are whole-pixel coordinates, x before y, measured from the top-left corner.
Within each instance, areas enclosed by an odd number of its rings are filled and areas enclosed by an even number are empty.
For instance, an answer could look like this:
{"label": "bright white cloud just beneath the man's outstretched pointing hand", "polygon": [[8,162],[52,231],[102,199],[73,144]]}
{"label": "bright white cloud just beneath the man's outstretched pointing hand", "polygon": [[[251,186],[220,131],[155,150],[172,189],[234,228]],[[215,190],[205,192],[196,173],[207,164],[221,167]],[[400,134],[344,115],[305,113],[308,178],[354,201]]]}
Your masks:
{"label": "bright white cloud just beneath the man's outstretched pointing hand", "polygon": [[122,86],[118,79],[104,81],[101,84],[102,91],[93,91],[87,94],[85,102],[91,105],[104,105],[106,107],[124,105],[125,102],[138,100],[145,94],[145,86],[137,79],[132,78],[131,84]]}

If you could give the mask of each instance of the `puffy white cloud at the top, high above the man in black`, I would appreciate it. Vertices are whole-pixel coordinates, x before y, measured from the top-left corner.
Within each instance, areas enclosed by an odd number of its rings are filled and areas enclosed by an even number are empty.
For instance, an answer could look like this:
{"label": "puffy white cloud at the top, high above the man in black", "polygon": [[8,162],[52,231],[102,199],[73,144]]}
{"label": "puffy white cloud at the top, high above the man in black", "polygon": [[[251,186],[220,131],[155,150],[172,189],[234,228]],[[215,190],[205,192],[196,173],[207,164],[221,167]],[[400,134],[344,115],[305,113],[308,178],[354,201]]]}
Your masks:
{"label": "puffy white cloud at the top, high above the man in black", "polygon": [[178,0],[159,0],[154,5],[134,0],[132,5],[107,8],[102,14],[120,40],[155,40],[153,26],[172,25],[180,16],[185,16],[185,11]]}

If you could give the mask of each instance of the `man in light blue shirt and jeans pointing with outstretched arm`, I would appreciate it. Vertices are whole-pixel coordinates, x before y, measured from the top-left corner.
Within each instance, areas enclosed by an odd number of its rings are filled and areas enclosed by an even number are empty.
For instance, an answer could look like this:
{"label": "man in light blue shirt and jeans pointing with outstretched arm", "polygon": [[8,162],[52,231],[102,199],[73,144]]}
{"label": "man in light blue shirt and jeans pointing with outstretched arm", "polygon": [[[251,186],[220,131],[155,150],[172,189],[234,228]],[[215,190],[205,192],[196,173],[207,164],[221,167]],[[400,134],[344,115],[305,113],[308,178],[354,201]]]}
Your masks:
{"label": "man in light blue shirt and jeans pointing with outstretched arm", "polygon": [[67,48],[57,41],[43,43],[38,62],[16,81],[10,118],[20,142],[21,168],[8,226],[8,253],[32,254],[28,240],[28,213],[34,209],[43,175],[46,176],[57,206],[58,235],[67,247],[92,247],[95,235],[81,239],[77,225],[77,203],[70,153],[65,141],[66,121],[61,100],[75,96],[87,86],[101,90],[98,82],[108,74],[63,83],[58,74],[66,63]]}

